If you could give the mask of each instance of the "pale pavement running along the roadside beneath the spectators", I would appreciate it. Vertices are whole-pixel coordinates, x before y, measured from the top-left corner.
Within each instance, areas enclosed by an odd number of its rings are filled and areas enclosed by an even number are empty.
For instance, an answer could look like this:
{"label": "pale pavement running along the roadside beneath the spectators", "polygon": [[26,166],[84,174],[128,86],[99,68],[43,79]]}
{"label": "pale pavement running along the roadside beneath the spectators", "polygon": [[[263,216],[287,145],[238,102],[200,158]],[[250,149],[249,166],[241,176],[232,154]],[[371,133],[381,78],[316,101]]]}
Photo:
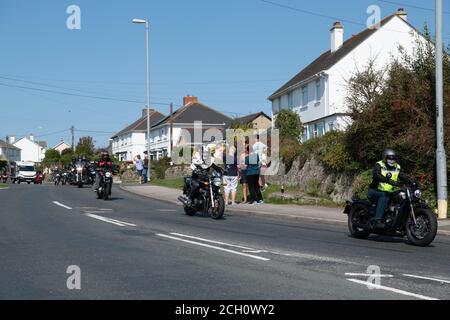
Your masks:
{"label": "pale pavement running along the roadside beneath the spectators", "polygon": [[[174,188],[153,186],[150,184],[123,185],[121,188],[140,196],[167,201],[181,206],[180,201],[177,200],[180,196],[180,190]],[[226,211],[262,217],[347,225],[347,215],[343,214],[343,208],[266,203],[257,206],[237,204],[235,206],[227,206]],[[450,235],[450,220],[439,220],[438,224],[438,232],[440,234]]]}

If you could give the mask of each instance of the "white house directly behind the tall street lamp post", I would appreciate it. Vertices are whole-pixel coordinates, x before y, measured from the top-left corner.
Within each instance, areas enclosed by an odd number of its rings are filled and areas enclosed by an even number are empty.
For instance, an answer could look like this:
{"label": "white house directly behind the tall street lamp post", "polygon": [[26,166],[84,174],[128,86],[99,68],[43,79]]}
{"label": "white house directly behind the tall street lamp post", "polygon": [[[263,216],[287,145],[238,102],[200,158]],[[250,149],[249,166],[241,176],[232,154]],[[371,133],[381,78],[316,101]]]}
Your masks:
{"label": "white house directly behind the tall street lamp post", "polygon": [[[165,116],[150,109],[150,125],[159,122]],[[112,154],[120,161],[132,161],[135,156],[143,155],[147,149],[147,109],[142,110],[141,117],[111,137]]]}

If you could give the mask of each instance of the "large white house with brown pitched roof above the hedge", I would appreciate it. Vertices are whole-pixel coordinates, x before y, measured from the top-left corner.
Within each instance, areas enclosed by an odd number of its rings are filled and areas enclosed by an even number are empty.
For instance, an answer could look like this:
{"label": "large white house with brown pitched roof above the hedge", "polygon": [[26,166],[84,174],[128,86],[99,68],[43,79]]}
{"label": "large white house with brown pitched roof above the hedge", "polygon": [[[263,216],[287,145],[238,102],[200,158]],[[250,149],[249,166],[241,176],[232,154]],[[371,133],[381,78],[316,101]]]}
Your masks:
{"label": "large white house with brown pitched roof above the hedge", "polygon": [[300,114],[304,124],[302,140],[321,136],[332,130],[345,130],[350,124],[345,104],[347,80],[363,70],[370,61],[376,68],[385,67],[400,54],[423,39],[407,21],[400,8],[384,18],[379,28],[367,28],[344,41],[344,27],[335,22],[331,29],[331,48],[276,90],[268,99],[274,118],[282,109]]}

